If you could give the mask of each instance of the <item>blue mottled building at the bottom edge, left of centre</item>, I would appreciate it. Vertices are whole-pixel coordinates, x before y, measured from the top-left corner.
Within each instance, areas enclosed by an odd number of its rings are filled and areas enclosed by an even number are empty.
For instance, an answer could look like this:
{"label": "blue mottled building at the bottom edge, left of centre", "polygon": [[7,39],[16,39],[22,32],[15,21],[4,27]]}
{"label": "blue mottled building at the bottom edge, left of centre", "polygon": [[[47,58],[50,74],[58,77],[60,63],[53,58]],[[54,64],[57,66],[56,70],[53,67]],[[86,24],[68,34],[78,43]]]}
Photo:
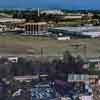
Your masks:
{"label": "blue mottled building at the bottom edge, left of centre", "polygon": [[33,86],[31,96],[32,100],[59,100],[60,95],[49,82],[40,82]]}

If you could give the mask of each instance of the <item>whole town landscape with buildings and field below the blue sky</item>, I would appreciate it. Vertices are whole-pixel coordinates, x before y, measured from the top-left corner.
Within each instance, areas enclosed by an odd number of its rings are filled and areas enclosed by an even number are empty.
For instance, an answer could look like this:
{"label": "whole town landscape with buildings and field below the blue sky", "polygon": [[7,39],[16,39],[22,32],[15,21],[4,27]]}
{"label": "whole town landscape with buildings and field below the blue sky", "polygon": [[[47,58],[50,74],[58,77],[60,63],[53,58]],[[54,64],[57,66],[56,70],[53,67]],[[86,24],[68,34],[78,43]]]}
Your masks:
{"label": "whole town landscape with buildings and field below the blue sky", "polygon": [[100,11],[0,10],[0,100],[99,100]]}

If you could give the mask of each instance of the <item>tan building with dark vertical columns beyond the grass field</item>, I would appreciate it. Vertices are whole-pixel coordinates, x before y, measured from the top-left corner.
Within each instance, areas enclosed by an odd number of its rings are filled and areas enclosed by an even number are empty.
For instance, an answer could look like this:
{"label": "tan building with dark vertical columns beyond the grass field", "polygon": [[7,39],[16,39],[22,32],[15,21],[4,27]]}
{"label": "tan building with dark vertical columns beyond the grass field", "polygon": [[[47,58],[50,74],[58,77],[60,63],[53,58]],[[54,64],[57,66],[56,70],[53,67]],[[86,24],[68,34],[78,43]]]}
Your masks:
{"label": "tan building with dark vertical columns beyond the grass field", "polygon": [[48,32],[48,24],[46,22],[25,23],[24,35],[44,35]]}

